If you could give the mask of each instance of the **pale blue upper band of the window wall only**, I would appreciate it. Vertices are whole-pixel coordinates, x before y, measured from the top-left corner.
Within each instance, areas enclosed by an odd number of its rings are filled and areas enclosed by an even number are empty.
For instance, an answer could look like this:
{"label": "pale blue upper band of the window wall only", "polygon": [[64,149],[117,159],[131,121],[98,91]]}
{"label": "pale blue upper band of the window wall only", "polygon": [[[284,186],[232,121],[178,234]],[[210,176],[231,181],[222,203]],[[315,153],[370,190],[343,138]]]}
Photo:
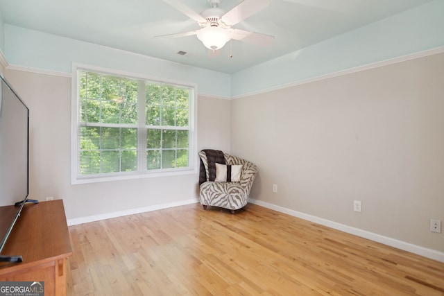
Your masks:
{"label": "pale blue upper band of the window wall only", "polygon": [[89,42],[5,24],[5,55],[10,65],[71,73],[72,62],[141,73],[157,79],[192,82],[200,94],[230,97],[230,75],[169,62]]}

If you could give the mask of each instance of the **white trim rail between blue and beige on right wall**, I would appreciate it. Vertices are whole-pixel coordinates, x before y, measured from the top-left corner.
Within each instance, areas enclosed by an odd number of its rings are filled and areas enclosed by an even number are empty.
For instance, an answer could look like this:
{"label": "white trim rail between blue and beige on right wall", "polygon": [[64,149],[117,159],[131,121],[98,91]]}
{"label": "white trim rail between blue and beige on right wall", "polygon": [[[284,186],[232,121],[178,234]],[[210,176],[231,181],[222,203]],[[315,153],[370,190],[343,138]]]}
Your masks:
{"label": "white trim rail between blue and beige on right wall", "polygon": [[337,71],[337,72],[332,72],[332,73],[327,73],[327,74],[323,74],[321,76],[316,76],[313,78],[307,78],[304,80],[298,80],[298,81],[294,81],[294,82],[289,82],[289,83],[284,83],[282,85],[277,85],[274,87],[268,87],[266,89],[260,89],[257,91],[253,91],[253,92],[248,92],[246,94],[240,94],[237,96],[232,96],[232,100],[237,99],[237,98],[245,98],[247,96],[254,96],[257,94],[264,94],[266,92],[273,92],[275,90],[279,90],[279,89],[285,89],[288,87],[295,87],[298,85],[305,85],[307,83],[310,82],[316,82],[316,81],[321,81],[321,80],[325,80],[325,79],[329,79],[329,78],[334,78],[334,77],[338,77],[338,76],[343,76],[343,75],[348,75],[351,73],[357,73],[360,71],[366,71],[369,69],[375,69],[375,68],[379,68],[379,67],[384,67],[384,66],[388,66],[390,64],[397,64],[398,62],[406,62],[409,60],[415,60],[418,58],[425,58],[429,55],[436,55],[438,53],[444,53],[444,46],[440,46],[437,47],[435,49],[428,49],[426,51],[420,51],[418,53],[412,53],[409,55],[403,55],[397,58],[391,58],[388,60],[383,60],[380,62],[373,62],[371,64],[364,64],[363,66],[359,66],[359,67],[353,67],[353,68],[349,68],[349,69],[345,69],[345,70],[341,70],[341,71]]}

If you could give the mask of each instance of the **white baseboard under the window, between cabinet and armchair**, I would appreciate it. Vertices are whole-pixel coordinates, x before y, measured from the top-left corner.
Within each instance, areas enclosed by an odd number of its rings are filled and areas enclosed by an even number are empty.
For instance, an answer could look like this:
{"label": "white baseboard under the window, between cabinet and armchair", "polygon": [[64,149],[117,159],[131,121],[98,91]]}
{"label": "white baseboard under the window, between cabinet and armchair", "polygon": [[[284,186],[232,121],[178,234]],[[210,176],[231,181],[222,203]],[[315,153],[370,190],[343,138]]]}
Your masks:
{"label": "white baseboard under the window, between cabinet and armchair", "polygon": [[189,200],[181,200],[179,202],[168,202],[166,204],[155,204],[153,206],[148,206],[148,207],[139,207],[139,208],[134,208],[134,209],[126,209],[123,211],[113,211],[111,213],[67,219],[67,223],[68,223],[68,226],[78,225],[78,224],[83,224],[83,223],[99,221],[99,220],[106,220],[106,219],[112,219],[112,218],[117,218],[117,217],[122,217],[122,216],[133,215],[133,214],[145,213],[147,211],[157,211],[159,209],[180,207],[180,206],[183,206],[186,204],[195,204],[197,202],[199,202],[199,200],[197,198],[192,198]]}

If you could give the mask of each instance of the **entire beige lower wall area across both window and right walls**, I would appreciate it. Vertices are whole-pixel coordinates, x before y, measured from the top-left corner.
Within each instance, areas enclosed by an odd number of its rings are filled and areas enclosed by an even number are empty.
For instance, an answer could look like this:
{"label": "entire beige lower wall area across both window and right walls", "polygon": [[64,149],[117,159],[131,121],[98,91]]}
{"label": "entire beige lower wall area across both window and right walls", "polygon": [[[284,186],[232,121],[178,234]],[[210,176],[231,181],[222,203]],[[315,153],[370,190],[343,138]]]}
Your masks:
{"label": "entire beige lower wall area across both window and right walls", "polygon": [[[63,198],[68,219],[197,198],[197,175],[71,185],[71,79],[6,78],[31,109],[30,198]],[[442,81],[439,54],[233,101],[199,96],[198,149],[255,162],[256,200],[443,252],[444,234],[428,230],[444,220]]]}

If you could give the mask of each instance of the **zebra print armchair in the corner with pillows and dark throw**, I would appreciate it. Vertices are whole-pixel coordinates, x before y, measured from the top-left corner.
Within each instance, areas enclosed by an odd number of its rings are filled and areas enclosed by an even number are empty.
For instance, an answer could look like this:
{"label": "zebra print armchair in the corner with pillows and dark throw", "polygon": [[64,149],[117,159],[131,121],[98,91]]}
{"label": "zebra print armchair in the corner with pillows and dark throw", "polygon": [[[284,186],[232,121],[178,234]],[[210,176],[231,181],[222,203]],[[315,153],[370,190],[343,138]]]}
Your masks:
{"label": "zebra print armchair in the corner with pillows and dark throw", "polygon": [[[203,209],[207,209],[207,206],[222,207],[234,214],[235,210],[244,207],[256,177],[257,166],[221,150],[202,150],[199,156],[199,195]],[[237,170],[240,176],[236,174]]]}

